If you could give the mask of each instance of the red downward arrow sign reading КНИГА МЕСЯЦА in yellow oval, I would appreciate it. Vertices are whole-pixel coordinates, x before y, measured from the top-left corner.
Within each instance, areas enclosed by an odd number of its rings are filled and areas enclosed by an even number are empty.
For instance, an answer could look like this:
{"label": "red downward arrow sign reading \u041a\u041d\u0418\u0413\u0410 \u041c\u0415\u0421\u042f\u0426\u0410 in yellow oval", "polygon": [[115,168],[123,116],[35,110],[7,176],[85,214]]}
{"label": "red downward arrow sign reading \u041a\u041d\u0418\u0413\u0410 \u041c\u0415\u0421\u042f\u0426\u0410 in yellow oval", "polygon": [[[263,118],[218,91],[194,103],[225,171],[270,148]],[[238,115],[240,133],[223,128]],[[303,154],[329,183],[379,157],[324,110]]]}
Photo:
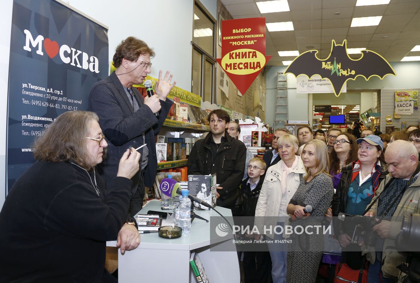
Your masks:
{"label": "red downward arrow sign reading \u041a\u041d\u0418\u0413\u0410 \u041c\u0415\u0421\u042f\u0426\u0410 in yellow oval", "polygon": [[222,21],[222,58],[216,59],[245,94],[271,56],[265,56],[265,17]]}

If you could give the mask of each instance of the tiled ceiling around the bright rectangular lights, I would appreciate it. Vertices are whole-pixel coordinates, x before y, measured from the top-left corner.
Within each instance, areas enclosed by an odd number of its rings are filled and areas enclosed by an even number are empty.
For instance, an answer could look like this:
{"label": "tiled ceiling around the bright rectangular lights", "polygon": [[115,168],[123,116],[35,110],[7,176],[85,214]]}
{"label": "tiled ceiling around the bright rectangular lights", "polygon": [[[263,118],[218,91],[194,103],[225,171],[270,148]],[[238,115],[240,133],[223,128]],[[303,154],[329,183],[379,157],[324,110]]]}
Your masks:
{"label": "tiled ceiling around the bright rectangular lights", "polygon": [[[356,0],[288,0],[290,11],[261,14],[256,2],[261,0],[221,0],[234,19],[265,17],[266,23],[293,21],[294,31],[268,32],[266,55],[273,57],[268,66],[282,66],[278,51],[319,50],[318,58],[326,58],[331,40],[347,48],[367,48],[381,54],[389,62],[404,56],[420,56],[410,52],[420,45],[420,0],[391,0],[386,5],[355,6]],[[336,15],[336,13],[340,13]],[[382,16],[378,26],[350,27],[352,18]],[[383,38],[388,37],[388,38]],[[306,48],[313,46],[313,48]],[[360,54],[350,55],[357,59]]]}

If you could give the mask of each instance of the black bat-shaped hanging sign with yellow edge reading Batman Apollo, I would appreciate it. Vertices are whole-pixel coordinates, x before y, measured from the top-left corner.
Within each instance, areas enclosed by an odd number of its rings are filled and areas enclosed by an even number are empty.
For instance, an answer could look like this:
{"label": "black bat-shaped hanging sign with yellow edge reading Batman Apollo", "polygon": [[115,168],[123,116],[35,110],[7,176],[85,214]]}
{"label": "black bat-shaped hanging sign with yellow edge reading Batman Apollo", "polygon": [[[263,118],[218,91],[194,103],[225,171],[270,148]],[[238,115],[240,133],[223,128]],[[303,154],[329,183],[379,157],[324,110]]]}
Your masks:
{"label": "black bat-shaped hanging sign with yellow edge reading Batman Apollo", "polygon": [[319,75],[331,82],[336,96],[340,95],[346,81],[354,80],[357,76],[368,80],[373,76],[383,79],[386,75],[396,75],[388,61],[378,53],[371,50],[361,52],[362,57],[354,60],[347,54],[346,40],[341,45],[333,40],[331,53],[326,59],[321,60],[316,56],[318,50],[309,50],[294,58],[284,73],[294,74],[295,77],[304,74],[309,79]]}

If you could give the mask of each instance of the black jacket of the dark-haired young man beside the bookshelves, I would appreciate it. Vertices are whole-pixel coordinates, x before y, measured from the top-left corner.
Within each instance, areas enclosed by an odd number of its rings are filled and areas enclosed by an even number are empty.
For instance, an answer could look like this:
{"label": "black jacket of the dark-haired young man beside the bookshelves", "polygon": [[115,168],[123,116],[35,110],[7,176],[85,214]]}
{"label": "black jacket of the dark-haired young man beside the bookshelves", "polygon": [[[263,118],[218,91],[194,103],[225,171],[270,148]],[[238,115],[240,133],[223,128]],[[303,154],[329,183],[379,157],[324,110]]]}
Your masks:
{"label": "black jacket of the dark-haired young man beside the bookshelves", "polygon": [[[241,206],[239,184],[244,176],[247,148],[244,143],[232,138],[225,131],[225,142],[213,153],[212,134],[197,140],[189,154],[187,166],[189,175],[209,175],[216,173],[216,182],[223,189],[217,190],[220,197],[217,205],[233,209]],[[213,166],[214,164],[214,166]]]}

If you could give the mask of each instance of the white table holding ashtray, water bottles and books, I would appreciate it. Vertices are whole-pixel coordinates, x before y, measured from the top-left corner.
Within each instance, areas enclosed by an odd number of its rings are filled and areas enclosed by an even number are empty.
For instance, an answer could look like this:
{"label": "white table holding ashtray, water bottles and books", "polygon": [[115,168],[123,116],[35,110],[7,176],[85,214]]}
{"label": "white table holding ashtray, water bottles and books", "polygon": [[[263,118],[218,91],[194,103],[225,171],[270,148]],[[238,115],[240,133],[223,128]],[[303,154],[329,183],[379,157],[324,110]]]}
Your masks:
{"label": "white table holding ashtray, water bottles and books", "polygon": [[[216,209],[225,217],[232,216],[230,209],[219,206]],[[139,213],[147,214],[149,210],[160,211],[160,201],[150,201]],[[207,220],[219,216],[213,210],[196,214]],[[197,250],[210,282],[239,283],[235,244],[231,240],[219,242],[218,236],[214,237],[210,245],[210,223],[200,219],[191,223],[191,233],[178,239],[160,238],[157,233],[142,234],[137,249],[124,255],[118,251],[118,282],[197,282],[189,264],[191,251]],[[115,245],[116,241],[107,242],[107,246]],[[210,251],[215,246],[219,251]]]}

